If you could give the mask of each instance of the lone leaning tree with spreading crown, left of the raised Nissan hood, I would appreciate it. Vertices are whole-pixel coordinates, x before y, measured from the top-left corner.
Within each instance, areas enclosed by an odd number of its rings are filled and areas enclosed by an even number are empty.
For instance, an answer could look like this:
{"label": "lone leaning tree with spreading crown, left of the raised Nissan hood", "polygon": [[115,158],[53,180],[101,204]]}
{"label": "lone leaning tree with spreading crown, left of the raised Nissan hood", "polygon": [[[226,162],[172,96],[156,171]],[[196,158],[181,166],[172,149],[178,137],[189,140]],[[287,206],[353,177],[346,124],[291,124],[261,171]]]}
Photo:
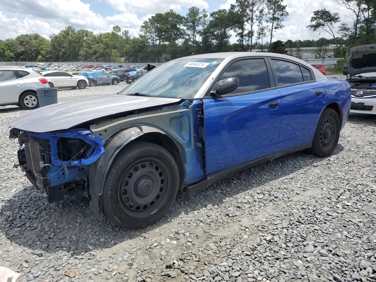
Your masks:
{"label": "lone leaning tree with spreading crown, left of the raised Nissan hood", "polygon": [[316,10],[311,17],[311,24],[307,26],[312,31],[324,30],[333,36],[335,45],[338,47],[337,38],[335,37],[334,25],[340,22],[337,12],[331,13],[327,9]]}

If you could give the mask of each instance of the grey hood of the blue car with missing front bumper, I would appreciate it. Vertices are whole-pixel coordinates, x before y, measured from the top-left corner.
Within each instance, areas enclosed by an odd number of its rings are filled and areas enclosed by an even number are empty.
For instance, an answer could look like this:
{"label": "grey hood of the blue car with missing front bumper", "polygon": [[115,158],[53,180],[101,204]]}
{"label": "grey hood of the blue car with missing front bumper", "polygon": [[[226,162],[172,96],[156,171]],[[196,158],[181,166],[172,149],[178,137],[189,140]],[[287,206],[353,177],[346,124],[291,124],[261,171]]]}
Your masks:
{"label": "grey hood of the blue car with missing front bumper", "polygon": [[180,99],[110,95],[44,106],[21,115],[9,125],[29,132],[68,129],[97,118],[155,106],[177,103]]}

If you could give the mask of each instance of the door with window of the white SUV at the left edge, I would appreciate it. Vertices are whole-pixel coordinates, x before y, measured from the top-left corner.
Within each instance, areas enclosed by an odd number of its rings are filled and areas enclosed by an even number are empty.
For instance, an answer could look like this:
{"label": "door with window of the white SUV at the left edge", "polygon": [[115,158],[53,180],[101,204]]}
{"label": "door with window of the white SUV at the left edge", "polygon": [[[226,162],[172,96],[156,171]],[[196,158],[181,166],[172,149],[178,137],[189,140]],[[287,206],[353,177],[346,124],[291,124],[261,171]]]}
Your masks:
{"label": "door with window of the white SUV at the left edge", "polygon": [[12,70],[0,70],[0,105],[18,103],[18,97],[25,90],[25,83]]}

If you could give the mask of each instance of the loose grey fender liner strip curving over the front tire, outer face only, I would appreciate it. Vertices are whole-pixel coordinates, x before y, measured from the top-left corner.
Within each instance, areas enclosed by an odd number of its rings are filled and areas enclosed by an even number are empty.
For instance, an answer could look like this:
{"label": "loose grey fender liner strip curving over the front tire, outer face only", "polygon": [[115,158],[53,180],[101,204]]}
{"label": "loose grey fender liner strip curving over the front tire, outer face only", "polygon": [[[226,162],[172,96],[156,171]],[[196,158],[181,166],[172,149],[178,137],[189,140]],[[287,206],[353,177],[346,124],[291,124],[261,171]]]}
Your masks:
{"label": "loose grey fender liner strip curving over the front tire, outer face only", "polygon": [[166,134],[160,129],[152,126],[141,126],[135,124],[115,133],[111,138],[106,140],[105,155],[100,157],[96,162],[90,165],[89,170],[89,191],[90,191],[90,210],[98,219],[103,218],[102,213],[102,193],[105,185],[106,175],[117,153],[123,149],[130,141],[139,136],[149,133],[159,132]]}

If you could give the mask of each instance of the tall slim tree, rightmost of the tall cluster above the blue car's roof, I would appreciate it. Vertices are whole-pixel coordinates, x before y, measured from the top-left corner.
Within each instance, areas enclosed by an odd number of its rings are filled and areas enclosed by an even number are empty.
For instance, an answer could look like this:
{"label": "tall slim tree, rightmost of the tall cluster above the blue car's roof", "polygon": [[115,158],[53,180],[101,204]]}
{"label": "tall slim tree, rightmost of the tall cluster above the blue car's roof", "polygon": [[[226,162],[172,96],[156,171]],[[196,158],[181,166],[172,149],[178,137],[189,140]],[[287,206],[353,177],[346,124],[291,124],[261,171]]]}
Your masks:
{"label": "tall slim tree, rightmost of the tall cluster above the blue car's roof", "polygon": [[282,21],[288,16],[286,11],[287,5],[283,5],[283,0],[266,0],[267,22],[270,26],[270,42],[273,38],[273,31],[282,29],[284,25]]}

